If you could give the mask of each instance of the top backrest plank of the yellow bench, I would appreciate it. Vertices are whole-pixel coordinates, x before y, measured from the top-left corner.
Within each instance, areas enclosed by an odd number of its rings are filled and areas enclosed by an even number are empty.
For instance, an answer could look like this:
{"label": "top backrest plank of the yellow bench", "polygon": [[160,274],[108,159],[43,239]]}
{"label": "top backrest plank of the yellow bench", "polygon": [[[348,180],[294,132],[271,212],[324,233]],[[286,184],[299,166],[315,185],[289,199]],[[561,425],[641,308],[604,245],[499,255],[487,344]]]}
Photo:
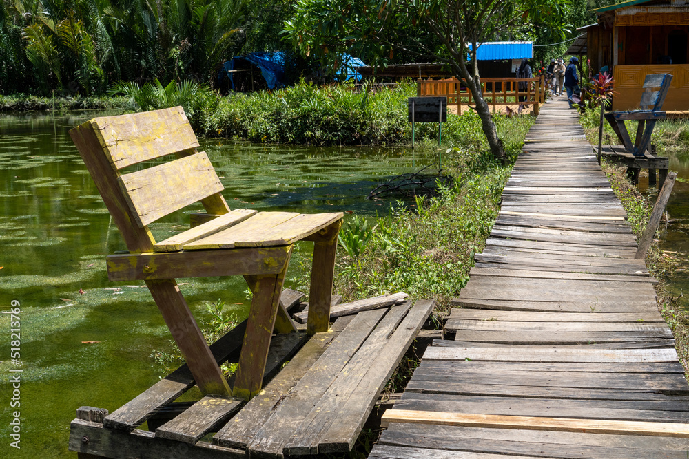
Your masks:
{"label": "top backrest plank of the yellow bench", "polygon": [[90,123],[116,170],[198,147],[182,107],[94,118]]}

